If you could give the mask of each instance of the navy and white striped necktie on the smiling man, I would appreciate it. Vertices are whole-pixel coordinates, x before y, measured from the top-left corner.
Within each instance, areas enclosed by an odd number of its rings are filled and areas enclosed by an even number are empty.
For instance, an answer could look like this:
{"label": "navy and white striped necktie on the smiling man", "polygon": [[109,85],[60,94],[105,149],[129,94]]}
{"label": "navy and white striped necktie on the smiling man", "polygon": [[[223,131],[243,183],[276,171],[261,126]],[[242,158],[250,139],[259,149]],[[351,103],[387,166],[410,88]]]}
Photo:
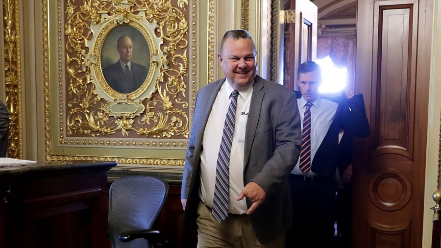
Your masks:
{"label": "navy and white striped necktie on the smiling man", "polygon": [[219,223],[222,223],[228,217],[230,151],[234,133],[237,95],[237,90],[231,93],[232,98],[225,117],[221,147],[216,165],[216,183],[212,214]]}

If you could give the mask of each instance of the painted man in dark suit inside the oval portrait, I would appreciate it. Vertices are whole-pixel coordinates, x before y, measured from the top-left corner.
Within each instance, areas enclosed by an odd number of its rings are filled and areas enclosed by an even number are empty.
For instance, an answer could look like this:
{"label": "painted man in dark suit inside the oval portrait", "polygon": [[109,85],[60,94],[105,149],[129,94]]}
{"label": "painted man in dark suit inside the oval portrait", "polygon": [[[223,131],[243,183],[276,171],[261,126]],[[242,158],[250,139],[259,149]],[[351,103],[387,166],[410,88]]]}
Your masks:
{"label": "painted man in dark suit inside the oval portrait", "polygon": [[131,61],[133,42],[129,36],[123,35],[118,39],[117,50],[120,59],[104,68],[104,78],[109,86],[119,93],[134,92],[146,80],[147,68]]}

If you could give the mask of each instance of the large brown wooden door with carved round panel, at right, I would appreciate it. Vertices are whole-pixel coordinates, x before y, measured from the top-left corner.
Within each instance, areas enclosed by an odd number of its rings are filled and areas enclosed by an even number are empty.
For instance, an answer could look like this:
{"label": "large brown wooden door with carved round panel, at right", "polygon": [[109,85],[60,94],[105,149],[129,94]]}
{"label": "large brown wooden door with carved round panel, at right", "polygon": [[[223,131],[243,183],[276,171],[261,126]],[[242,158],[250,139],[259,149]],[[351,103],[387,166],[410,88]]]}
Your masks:
{"label": "large brown wooden door with carved round panel, at right", "polygon": [[432,0],[359,0],[355,92],[371,134],[354,142],[354,248],[422,243]]}

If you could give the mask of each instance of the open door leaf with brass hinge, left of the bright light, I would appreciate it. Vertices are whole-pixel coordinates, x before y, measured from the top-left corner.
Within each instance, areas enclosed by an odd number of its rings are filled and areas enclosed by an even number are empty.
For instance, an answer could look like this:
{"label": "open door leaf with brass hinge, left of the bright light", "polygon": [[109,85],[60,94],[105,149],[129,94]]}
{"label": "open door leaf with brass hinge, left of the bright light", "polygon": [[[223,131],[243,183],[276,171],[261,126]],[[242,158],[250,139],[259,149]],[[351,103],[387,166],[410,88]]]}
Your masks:
{"label": "open door leaf with brass hinge, left of the bright light", "polygon": [[[296,89],[297,68],[317,56],[317,6],[310,0],[290,0],[287,9],[295,10],[294,23],[284,25],[283,84]],[[287,12],[288,16],[290,12]],[[286,19],[287,22],[289,18]]]}

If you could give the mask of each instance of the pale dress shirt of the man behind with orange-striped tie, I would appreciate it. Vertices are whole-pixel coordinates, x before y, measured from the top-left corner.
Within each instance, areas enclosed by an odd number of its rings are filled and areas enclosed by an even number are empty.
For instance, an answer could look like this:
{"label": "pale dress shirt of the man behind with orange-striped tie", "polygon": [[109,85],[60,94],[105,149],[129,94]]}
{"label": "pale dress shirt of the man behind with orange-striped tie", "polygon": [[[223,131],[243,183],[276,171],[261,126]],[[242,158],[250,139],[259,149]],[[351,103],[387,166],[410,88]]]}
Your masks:
{"label": "pale dress shirt of the man behind with orange-striped tie", "polygon": [[[303,97],[297,99],[298,112],[300,113],[300,123],[303,129],[303,116],[305,115],[306,103]],[[298,166],[299,161],[297,161],[297,165],[294,167],[292,173],[299,175],[316,175],[314,173],[314,167],[312,162],[314,161],[314,157],[316,156],[317,150],[320,147],[321,142],[323,141],[326,133],[329,130],[329,126],[331,126],[332,122],[335,118],[335,113],[337,112],[337,106],[339,105],[336,102],[333,102],[328,99],[318,98],[315,101],[312,101],[311,106],[311,170],[306,173],[300,171]]]}

